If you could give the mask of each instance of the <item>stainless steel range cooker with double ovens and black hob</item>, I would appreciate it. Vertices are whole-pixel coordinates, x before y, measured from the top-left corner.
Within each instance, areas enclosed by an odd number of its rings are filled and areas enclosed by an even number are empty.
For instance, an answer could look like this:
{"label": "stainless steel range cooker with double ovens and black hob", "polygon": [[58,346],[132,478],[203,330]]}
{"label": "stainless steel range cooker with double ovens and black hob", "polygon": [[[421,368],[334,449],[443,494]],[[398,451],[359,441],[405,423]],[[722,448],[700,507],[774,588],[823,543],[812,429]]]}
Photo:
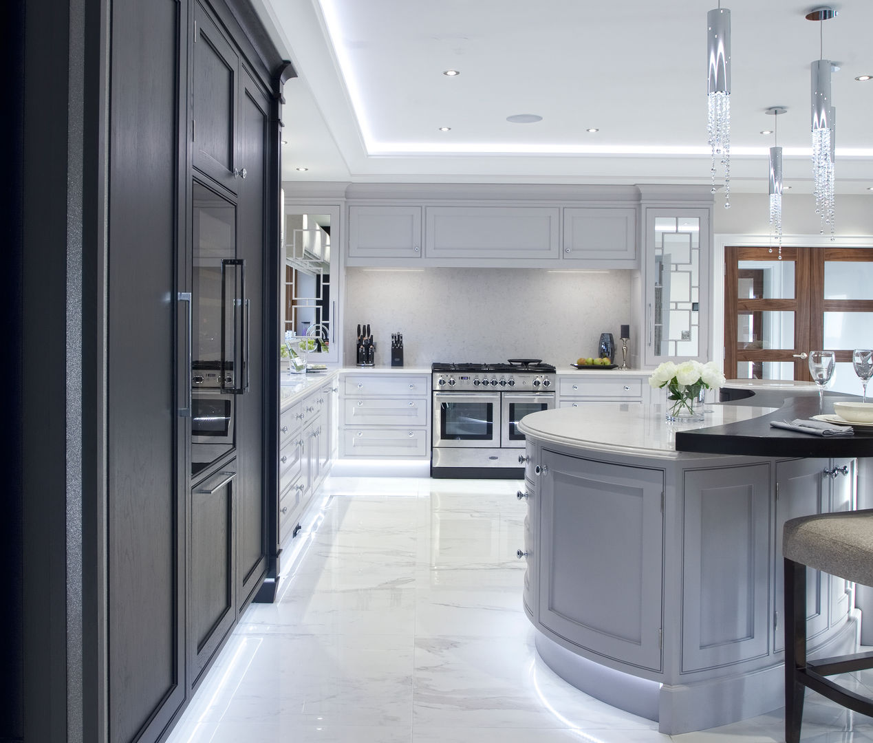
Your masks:
{"label": "stainless steel range cooker with double ovens and black hob", "polygon": [[[434,478],[520,478],[519,421],[554,407],[555,368],[540,359],[433,364]],[[520,455],[520,456],[519,456]]]}

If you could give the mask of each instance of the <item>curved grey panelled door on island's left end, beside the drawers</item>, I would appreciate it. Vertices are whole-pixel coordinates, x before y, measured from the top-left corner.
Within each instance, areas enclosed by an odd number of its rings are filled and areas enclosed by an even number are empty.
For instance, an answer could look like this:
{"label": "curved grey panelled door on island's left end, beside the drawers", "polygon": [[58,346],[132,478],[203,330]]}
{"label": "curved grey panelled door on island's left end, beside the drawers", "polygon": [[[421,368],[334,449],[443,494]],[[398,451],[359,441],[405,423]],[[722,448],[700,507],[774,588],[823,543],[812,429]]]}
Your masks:
{"label": "curved grey panelled door on island's left end, beside the drawers", "polygon": [[540,624],[602,656],[659,670],[663,471],[551,451],[540,466]]}

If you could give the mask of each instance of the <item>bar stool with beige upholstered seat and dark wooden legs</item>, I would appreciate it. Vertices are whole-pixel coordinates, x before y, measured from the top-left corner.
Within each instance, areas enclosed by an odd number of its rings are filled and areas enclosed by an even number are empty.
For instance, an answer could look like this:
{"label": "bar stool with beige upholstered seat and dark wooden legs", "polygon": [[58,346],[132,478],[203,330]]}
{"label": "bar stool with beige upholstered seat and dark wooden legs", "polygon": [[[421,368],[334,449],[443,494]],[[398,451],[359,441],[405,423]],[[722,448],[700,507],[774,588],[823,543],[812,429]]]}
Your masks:
{"label": "bar stool with beige upholstered seat and dark wooden legs", "polygon": [[[873,668],[873,652],[807,660],[807,568],[873,586],[873,509],[803,516],[785,523],[785,740],[801,739],[803,695],[818,691],[838,705],[873,717],[873,698],[827,676]],[[873,621],[873,617],[867,618]]]}

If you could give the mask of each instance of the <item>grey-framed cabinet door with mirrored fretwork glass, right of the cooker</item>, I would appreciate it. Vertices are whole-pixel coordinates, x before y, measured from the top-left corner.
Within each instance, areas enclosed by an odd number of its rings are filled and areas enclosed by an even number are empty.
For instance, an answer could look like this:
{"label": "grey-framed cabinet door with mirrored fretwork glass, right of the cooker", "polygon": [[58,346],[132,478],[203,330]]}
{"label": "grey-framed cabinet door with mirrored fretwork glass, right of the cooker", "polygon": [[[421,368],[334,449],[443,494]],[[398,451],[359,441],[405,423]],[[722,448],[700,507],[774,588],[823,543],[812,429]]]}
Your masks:
{"label": "grey-framed cabinet door with mirrored fretwork glass, right of the cooker", "polygon": [[710,360],[710,210],[646,209],[643,364]]}

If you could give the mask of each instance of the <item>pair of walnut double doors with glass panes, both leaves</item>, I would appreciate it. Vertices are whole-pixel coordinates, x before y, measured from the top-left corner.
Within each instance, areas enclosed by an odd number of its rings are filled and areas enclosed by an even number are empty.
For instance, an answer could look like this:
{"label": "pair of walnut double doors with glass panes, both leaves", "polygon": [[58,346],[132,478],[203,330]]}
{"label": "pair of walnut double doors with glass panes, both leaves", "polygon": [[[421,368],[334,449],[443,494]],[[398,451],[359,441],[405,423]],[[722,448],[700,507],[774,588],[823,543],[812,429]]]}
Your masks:
{"label": "pair of walnut double doors with glass panes, both leaves", "polygon": [[725,247],[725,375],[810,381],[810,350],[835,351],[829,389],[860,386],[852,349],[873,347],[873,250]]}

